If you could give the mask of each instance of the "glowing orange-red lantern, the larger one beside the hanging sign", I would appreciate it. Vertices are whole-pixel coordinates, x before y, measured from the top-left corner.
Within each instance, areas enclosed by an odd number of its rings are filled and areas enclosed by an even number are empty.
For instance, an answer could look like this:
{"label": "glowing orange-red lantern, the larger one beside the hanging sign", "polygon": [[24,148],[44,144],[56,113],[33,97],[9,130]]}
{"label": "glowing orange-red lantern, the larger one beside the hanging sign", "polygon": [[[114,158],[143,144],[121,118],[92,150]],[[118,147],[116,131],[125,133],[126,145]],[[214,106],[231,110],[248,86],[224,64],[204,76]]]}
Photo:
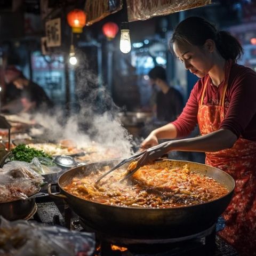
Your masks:
{"label": "glowing orange-red lantern, the larger one beside the hanging sign", "polygon": [[73,33],[82,33],[86,24],[86,14],[83,10],[75,9],[67,15],[68,25],[72,27]]}

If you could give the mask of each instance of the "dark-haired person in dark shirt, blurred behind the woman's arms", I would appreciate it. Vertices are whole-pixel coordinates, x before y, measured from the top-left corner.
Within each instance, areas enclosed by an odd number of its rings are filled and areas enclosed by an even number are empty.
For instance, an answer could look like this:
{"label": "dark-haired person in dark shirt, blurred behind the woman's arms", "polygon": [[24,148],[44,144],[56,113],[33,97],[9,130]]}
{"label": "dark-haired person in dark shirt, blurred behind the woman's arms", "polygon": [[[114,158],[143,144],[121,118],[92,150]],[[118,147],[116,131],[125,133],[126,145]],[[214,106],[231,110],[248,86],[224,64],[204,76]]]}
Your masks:
{"label": "dark-haired person in dark shirt, blurred behind the woman's arms", "polygon": [[155,106],[153,111],[158,122],[172,122],[181,113],[183,108],[183,97],[174,87],[167,83],[166,71],[161,66],[156,66],[148,73],[150,83],[156,86]]}

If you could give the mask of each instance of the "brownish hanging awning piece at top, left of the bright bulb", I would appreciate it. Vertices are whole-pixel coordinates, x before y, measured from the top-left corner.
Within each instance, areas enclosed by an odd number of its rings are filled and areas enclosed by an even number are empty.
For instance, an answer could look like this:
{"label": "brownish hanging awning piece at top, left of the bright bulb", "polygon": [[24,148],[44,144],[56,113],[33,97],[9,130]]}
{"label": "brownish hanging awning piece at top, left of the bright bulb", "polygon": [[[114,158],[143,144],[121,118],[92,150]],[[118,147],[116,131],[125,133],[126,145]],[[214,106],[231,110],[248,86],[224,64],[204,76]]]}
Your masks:
{"label": "brownish hanging awning piece at top, left of the bright bulb", "polygon": [[123,0],[87,0],[84,12],[86,13],[86,26],[102,20],[111,13],[121,10]]}

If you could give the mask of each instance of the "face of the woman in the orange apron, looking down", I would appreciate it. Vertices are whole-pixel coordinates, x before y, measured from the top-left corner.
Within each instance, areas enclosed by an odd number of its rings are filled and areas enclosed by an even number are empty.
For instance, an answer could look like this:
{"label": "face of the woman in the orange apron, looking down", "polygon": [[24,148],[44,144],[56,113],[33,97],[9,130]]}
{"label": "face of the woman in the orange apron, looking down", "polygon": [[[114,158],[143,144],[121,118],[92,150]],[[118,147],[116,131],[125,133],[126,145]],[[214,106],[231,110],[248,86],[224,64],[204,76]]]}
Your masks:
{"label": "face of the woman in the orange apron, looking down", "polygon": [[198,47],[190,44],[173,43],[176,57],[185,65],[186,69],[197,77],[204,77],[213,66],[212,50],[209,45]]}

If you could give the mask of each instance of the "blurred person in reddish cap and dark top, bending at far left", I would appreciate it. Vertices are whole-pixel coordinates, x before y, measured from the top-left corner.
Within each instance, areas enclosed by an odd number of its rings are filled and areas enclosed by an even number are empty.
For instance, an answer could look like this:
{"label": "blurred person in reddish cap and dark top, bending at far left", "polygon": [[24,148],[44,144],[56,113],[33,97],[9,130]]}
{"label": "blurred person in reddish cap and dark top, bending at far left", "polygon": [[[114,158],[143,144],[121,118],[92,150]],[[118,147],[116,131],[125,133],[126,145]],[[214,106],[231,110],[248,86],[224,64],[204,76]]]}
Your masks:
{"label": "blurred person in reddish cap and dark top, bending at far left", "polygon": [[[47,110],[53,107],[52,101],[49,99],[41,86],[27,79],[23,73],[15,66],[9,66],[4,72],[5,82],[7,83],[7,92],[13,100],[1,108],[1,111],[16,111],[17,113],[30,112],[39,110]],[[15,86],[15,94],[8,89],[8,86]],[[12,94],[11,94],[12,93]],[[16,107],[16,108],[15,108]]]}

